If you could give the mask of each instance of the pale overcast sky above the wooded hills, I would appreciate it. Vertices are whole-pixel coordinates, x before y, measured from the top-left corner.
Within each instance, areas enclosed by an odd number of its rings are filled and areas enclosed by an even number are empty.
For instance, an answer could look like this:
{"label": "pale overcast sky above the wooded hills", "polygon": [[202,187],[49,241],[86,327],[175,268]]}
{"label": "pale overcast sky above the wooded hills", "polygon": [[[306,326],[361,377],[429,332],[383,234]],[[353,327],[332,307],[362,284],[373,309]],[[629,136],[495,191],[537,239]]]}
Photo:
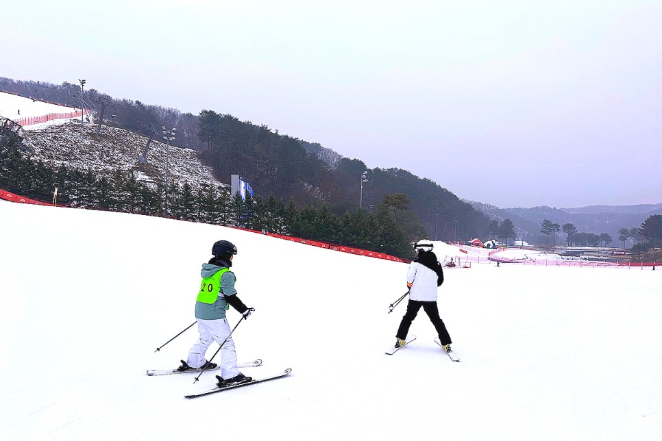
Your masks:
{"label": "pale overcast sky above the wooded hills", "polygon": [[3,77],[232,114],[499,207],[662,202],[659,0],[2,11]]}

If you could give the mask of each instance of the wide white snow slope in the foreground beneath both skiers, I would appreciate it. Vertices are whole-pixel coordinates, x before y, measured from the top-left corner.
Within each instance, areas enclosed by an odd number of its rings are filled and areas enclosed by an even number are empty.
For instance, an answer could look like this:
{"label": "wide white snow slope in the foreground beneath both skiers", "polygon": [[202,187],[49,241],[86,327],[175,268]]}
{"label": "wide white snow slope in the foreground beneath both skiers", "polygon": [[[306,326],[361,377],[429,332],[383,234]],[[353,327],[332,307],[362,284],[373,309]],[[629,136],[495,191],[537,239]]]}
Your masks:
{"label": "wide white snow slope in the foreground beneath both skiers", "polygon": [[[417,340],[384,355],[407,264],[134,214],[0,203],[0,219],[4,440],[662,438],[660,270],[447,269],[452,363],[422,311]],[[175,368],[197,339],[193,327],[155,352],[195,320],[220,239],[255,308],[238,357],[264,360],[243,372],[293,370],[188,401],[214,373],[145,371]]]}

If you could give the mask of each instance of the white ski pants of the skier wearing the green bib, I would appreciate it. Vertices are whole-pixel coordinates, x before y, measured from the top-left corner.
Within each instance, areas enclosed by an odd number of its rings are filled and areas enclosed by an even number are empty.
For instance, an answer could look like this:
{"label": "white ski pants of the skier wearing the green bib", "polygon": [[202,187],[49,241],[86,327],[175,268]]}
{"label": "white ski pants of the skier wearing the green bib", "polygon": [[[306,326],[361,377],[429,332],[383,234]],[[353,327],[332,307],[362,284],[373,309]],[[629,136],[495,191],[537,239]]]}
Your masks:
{"label": "white ski pants of the skier wearing the green bib", "polygon": [[[192,368],[199,368],[205,363],[205,353],[207,348],[213,341],[218,344],[223,344],[221,347],[221,377],[224,379],[235,377],[239,375],[239,369],[236,367],[236,351],[234,350],[234,342],[230,336],[230,325],[228,325],[227,318],[219,320],[202,320],[197,319],[197,330],[200,333],[200,338],[188,353],[188,360],[186,364]],[[228,338],[228,340],[225,340]],[[217,362],[214,359],[214,362]]]}

